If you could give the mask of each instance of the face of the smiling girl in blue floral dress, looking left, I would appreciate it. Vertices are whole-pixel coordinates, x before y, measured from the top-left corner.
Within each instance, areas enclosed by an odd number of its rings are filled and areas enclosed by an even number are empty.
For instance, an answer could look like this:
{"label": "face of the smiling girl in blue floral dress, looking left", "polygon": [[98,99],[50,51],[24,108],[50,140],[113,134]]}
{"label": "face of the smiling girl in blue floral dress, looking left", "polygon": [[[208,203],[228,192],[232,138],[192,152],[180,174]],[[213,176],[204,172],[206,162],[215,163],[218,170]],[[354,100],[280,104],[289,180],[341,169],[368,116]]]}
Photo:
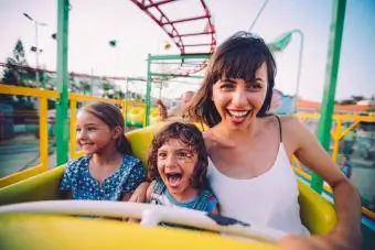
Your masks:
{"label": "face of the smiling girl in blue floral dress, looking left", "polygon": [[101,153],[115,143],[110,128],[94,115],[82,110],[77,115],[77,142],[85,154]]}

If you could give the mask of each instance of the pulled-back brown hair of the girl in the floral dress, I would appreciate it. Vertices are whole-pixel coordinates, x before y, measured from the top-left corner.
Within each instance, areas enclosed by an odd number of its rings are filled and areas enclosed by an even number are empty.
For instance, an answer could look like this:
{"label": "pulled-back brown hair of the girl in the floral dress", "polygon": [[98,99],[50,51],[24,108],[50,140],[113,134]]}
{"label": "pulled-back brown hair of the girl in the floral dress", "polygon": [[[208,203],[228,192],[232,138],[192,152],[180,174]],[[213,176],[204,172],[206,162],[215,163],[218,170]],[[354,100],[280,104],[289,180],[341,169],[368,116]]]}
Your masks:
{"label": "pulled-back brown hair of the girl in the floral dress", "polygon": [[92,113],[104,121],[110,129],[119,126],[122,129],[121,135],[116,140],[116,149],[120,153],[131,154],[131,145],[125,137],[125,121],[121,111],[114,105],[106,102],[92,102],[83,107],[83,110]]}

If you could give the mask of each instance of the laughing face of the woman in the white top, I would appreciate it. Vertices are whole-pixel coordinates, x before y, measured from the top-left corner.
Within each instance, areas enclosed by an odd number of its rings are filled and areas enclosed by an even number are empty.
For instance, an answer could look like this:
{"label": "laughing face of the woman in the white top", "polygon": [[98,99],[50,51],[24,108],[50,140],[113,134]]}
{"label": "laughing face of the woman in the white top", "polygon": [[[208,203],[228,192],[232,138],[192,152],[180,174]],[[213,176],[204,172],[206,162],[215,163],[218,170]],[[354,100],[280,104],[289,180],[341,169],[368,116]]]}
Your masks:
{"label": "laughing face of the woman in the white top", "polygon": [[260,110],[267,94],[267,65],[255,73],[255,81],[223,78],[213,86],[212,100],[222,117],[222,123],[232,129],[247,128]]}

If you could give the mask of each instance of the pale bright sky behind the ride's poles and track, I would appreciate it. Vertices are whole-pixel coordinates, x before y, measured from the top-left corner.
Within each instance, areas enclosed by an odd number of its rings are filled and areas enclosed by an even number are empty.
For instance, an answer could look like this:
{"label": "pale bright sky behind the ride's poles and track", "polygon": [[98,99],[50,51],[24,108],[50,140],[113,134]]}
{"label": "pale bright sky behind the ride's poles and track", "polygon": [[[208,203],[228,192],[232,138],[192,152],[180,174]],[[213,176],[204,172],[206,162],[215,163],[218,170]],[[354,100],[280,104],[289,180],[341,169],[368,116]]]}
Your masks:
{"label": "pale bright sky behind the ride's poles and track", "polygon": [[[188,10],[194,13],[193,3],[170,8],[173,17]],[[40,66],[56,68],[56,42],[51,34],[56,32],[57,1],[52,0],[0,0],[0,62],[6,62],[18,39],[26,47],[26,59],[35,66],[35,54],[30,46],[35,43],[34,24],[23,13],[46,23],[39,26],[39,45],[43,50]],[[218,44],[233,33],[251,25],[265,0],[206,0],[216,28]],[[168,52],[162,46],[169,36],[137,6],[128,0],[71,0],[68,34],[68,70],[109,76],[147,76],[147,56],[151,54],[175,54],[172,46]],[[191,6],[190,6],[191,4]],[[281,34],[301,30],[303,33],[302,67],[298,95],[303,99],[321,101],[325,83],[329,36],[332,21],[331,0],[268,0],[266,8],[251,32],[267,43]],[[275,54],[278,73],[276,87],[285,94],[294,95],[301,40],[293,33],[288,47]],[[118,45],[110,47],[109,40]],[[372,76],[375,65],[375,1],[347,0],[345,25],[342,40],[341,62],[336,87],[336,99],[353,95],[375,96]],[[171,83],[163,96],[178,97],[188,89],[197,89],[199,81]],[[121,84],[121,83],[120,83]],[[124,84],[124,83],[122,83]],[[144,90],[137,84],[130,89]],[[154,89],[156,90],[156,89]],[[154,91],[156,95],[156,91]]]}

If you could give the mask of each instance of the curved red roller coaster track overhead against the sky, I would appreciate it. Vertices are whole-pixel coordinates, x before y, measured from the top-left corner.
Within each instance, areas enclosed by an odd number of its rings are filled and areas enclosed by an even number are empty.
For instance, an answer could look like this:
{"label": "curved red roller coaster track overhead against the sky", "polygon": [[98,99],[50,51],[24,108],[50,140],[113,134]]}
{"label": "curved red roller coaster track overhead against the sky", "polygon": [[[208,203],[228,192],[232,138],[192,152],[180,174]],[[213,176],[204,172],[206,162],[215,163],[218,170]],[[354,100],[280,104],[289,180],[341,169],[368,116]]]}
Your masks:
{"label": "curved red roller coaster track overhead against the sky", "polygon": [[[216,46],[216,32],[210,10],[204,0],[131,0],[146,14],[148,14],[173,41],[181,55],[211,54]],[[189,2],[190,12],[195,15],[181,13],[178,18],[176,10],[188,12],[184,4]],[[194,4],[194,8],[192,8]],[[185,6],[186,7],[186,6]],[[207,65],[206,61],[188,63],[181,59],[176,73],[190,75],[202,70]]]}

